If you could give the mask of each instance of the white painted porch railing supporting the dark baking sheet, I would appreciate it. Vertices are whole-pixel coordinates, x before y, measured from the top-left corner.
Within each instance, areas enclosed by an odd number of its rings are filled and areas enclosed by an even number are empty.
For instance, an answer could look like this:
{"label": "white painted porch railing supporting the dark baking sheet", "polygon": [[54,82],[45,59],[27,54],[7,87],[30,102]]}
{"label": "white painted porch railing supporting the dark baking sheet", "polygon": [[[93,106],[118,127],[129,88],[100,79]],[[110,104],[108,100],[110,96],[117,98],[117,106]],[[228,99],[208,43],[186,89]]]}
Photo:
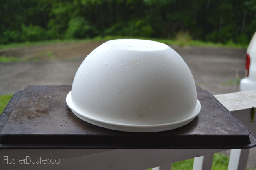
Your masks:
{"label": "white painted porch railing supporting the dark baking sheet", "polygon": [[[255,118],[250,109],[256,107],[256,91],[216,95],[237,119],[255,134]],[[1,155],[40,159],[65,159],[65,164],[3,164],[1,169],[135,169],[170,170],[171,163],[195,157],[193,170],[210,170],[213,153],[226,149],[1,149]],[[232,149],[229,170],[246,168],[249,149]],[[158,166],[158,167],[157,167]]]}

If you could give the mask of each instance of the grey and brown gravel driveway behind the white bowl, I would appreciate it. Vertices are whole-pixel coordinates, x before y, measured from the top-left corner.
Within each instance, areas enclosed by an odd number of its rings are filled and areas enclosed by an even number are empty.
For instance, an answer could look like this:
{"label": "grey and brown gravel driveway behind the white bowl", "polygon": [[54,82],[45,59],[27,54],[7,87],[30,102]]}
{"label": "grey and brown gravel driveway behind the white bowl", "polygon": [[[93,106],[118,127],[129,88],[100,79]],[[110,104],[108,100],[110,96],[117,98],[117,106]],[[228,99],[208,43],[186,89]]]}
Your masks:
{"label": "grey and brown gravel driveway behind the white bowl", "polygon": [[[38,62],[0,63],[0,94],[13,94],[27,85],[71,85],[85,57],[103,42],[59,43],[1,50],[0,55]],[[217,47],[178,47],[189,66],[195,83],[212,94],[239,91],[230,81],[244,77],[246,49]]]}

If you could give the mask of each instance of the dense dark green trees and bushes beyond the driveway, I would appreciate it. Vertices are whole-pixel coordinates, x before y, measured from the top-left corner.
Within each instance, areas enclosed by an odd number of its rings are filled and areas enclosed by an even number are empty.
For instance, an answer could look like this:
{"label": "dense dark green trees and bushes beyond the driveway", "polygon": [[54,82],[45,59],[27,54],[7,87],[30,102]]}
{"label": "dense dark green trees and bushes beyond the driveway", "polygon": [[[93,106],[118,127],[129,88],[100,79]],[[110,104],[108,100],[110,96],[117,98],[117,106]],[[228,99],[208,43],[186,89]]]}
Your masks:
{"label": "dense dark green trees and bushes beyond the driveway", "polygon": [[1,44],[105,36],[247,44],[255,0],[1,0]]}

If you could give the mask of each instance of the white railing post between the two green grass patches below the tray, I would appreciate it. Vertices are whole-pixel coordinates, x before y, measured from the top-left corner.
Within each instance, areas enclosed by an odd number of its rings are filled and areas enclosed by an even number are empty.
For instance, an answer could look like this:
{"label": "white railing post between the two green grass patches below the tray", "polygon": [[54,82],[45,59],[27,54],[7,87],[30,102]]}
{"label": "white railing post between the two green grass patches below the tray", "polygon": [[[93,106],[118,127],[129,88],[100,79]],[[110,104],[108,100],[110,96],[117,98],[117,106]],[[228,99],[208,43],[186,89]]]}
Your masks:
{"label": "white railing post between the two green grass patches below the tray", "polygon": [[213,164],[213,153],[194,158],[193,170],[210,170]]}

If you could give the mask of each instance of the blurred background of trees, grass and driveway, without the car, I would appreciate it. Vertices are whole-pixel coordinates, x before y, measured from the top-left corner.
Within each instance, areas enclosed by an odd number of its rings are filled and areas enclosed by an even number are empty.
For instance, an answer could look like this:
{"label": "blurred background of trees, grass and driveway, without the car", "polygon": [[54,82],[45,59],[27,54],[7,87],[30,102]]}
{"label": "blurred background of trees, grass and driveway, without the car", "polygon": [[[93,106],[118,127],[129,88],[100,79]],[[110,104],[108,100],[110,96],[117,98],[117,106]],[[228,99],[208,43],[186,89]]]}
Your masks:
{"label": "blurred background of trees, grass and driveway, without the car", "polygon": [[[0,0],[0,113],[27,85],[72,85],[93,49],[120,38],[169,45],[213,95],[239,91],[255,30],[255,0]],[[214,154],[212,169],[228,159]],[[192,167],[190,159],[172,169]]]}

